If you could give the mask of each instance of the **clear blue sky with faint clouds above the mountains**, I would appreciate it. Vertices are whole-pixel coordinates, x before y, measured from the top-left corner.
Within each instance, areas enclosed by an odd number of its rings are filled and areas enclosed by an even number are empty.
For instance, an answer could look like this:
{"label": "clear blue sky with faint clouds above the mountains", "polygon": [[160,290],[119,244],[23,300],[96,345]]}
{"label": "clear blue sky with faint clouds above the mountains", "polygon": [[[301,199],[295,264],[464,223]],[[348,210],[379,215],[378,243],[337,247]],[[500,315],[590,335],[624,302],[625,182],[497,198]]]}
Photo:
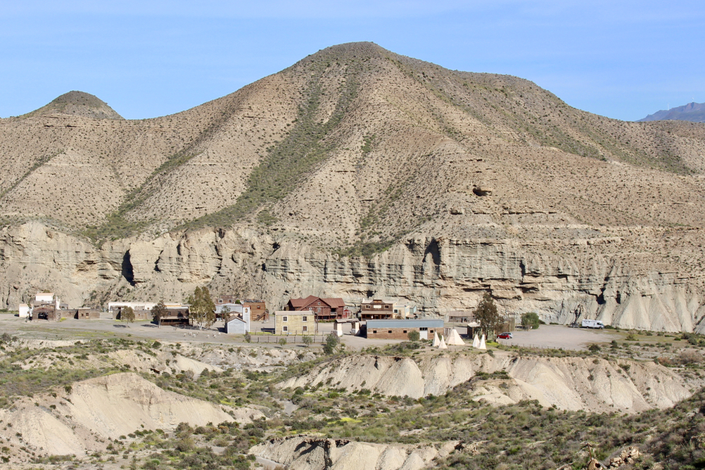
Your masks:
{"label": "clear blue sky with faint clouds above the mountains", "polygon": [[621,120],[705,102],[702,0],[23,0],[0,8],[0,118],[71,90],[165,116],[357,41]]}

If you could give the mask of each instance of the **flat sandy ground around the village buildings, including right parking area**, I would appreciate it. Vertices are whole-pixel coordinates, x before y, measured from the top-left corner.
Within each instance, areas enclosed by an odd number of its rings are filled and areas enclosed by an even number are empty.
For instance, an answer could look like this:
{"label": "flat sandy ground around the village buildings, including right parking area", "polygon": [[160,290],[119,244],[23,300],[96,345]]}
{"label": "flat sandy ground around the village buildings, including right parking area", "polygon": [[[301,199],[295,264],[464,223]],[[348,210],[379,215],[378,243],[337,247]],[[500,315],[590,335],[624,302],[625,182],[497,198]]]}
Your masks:
{"label": "flat sandy ground around the village buildings, including right parking area", "polygon": [[[274,328],[274,321],[252,323],[251,345],[274,345],[278,337],[267,330]],[[319,323],[315,342],[323,342],[325,335],[333,330],[332,323]],[[135,321],[125,326],[120,321],[109,317],[99,320],[64,319],[60,322],[25,321],[13,314],[0,314],[0,333],[16,335],[27,339],[66,340],[93,338],[135,338],[166,342],[211,342],[223,345],[245,345],[242,335],[226,335],[223,333],[223,322],[214,324],[209,329],[175,328],[173,326],[157,327],[149,321]],[[376,347],[394,344],[400,340],[368,340],[350,335],[350,326],[343,327],[343,343],[352,350],[362,350],[365,347]],[[464,328],[458,328],[458,333],[465,333]],[[583,328],[568,328],[567,326],[542,325],[538,330],[515,331],[511,340],[498,340],[504,345],[526,347],[563,348],[565,350],[582,350],[591,343],[610,342],[620,338],[620,333],[612,330],[587,330]],[[463,338],[468,345],[472,339]],[[301,336],[288,337],[286,347],[302,345]]]}

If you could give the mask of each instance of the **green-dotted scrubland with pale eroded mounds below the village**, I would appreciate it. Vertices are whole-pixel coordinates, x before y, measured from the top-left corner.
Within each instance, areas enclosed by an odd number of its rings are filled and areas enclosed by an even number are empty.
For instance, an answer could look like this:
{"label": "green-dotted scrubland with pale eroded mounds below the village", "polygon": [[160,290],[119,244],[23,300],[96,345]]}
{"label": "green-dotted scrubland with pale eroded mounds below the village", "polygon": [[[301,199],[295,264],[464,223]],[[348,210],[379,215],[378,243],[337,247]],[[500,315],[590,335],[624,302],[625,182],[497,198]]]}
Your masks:
{"label": "green-dotted scrubland with pale eroded mounds below the village", "polygon": [[699,335],[326,355],[130,329],[0,335],[3,468],[580,469],[586,443],[603,464],[635,447],[623,469],[705,459]]}

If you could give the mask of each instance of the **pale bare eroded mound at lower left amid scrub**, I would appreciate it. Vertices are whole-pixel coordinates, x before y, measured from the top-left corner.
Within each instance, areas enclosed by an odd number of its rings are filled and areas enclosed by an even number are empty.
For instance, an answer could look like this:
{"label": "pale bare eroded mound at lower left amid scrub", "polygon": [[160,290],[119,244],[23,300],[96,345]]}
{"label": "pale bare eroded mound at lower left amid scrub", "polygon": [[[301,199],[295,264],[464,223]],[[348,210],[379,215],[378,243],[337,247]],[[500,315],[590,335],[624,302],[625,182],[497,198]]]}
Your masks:
{"label": "pale bare eroded mound at lower left amid scrub", "polygon": [[[249,423],[262,416],[241,409],[239,419]],[[221,407],[167,392],[135,373],[92,378],[73,384],[66,394],[20,400],[12,409],[1,409],[0,419],[12,423],[2,433],[4,440],[48,455],[104,451],[110,439],[141,429],[173,431],[181,422],[235,421]]]}

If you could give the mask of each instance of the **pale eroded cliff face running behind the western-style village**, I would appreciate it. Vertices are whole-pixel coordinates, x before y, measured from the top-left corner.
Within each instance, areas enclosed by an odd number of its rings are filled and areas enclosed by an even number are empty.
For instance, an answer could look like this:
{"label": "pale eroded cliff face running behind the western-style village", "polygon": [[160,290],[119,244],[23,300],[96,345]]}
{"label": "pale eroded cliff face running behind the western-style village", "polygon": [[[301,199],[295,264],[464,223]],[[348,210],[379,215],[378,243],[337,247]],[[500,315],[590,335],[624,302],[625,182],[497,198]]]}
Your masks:
{"label": "pale eroded cliff face running behind the western-style village", "polygon": [[705,330],[702,277],[618,256],[627,247],[617,239],[570,243],[587,249],[576,252],[556,241],[416,236],[367,259],[251,228],[94,247],[33,222],[0,233],[0,304],[16,309],[38,290],[56,292],[74,308],[117,298],[179,302],[195,286],[209,285],[214,293],[261,297],[270,310],[313,294],[348,304],[396,299],[422,314],[443,315],[474,309],[489,290],[503,313],[536,311],[547,322],[570,323],[582,305],[583,318],[620,328]]}

